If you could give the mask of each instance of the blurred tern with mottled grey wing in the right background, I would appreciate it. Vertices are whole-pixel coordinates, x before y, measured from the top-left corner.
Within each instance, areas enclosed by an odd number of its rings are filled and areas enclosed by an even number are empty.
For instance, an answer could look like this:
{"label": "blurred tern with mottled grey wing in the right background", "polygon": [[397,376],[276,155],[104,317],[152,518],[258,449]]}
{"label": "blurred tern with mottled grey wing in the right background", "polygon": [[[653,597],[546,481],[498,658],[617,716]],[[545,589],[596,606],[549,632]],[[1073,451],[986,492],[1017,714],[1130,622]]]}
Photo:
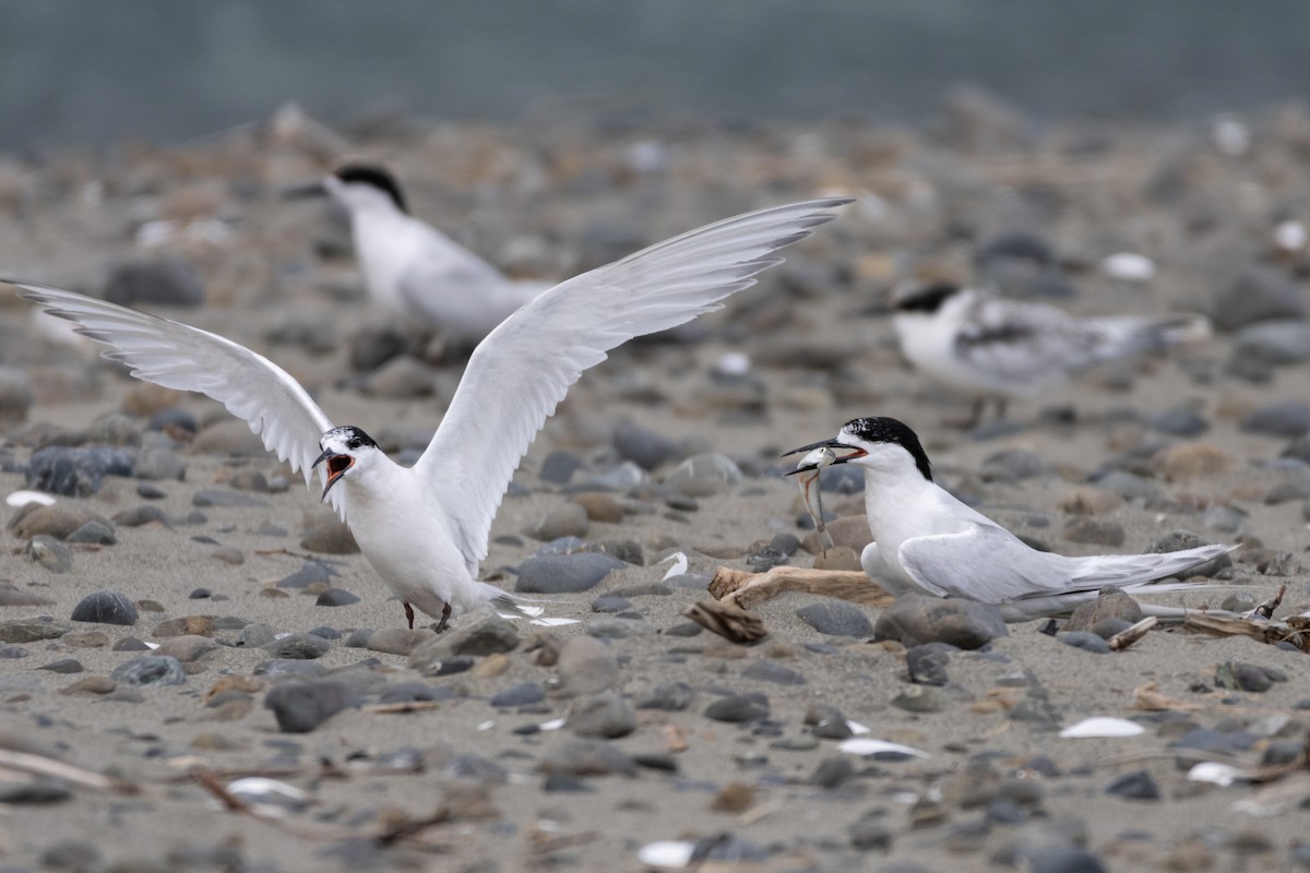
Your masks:
{"label": "blurred tern with mottled grey wing in the right background", "polygon": [[968,427],[979,423],[988,401],[1003,416],[1010,399],[1058,387],[1098,364],[1210,332],[1203,315],[1074,318],[1055,306],[947,283],[904,284],[889,305],[905,359],[973,398]]}

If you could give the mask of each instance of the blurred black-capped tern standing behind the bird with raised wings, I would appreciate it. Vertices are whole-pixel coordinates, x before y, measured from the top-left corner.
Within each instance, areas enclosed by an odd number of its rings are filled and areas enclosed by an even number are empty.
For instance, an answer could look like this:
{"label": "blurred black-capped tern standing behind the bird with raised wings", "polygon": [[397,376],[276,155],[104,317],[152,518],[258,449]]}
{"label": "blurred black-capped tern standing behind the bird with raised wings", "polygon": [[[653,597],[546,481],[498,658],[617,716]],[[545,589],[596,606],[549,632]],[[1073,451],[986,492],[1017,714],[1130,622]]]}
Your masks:
{"label": "blurred black-capped tern standing behind the bird with raised wings", "polygon": [[287,196],[329,195],[350,213],[355,258],[369,298],[385,312],[473,343],[549,281],[510,279],[409,212],[396,177],[372,164],[347,164]]}

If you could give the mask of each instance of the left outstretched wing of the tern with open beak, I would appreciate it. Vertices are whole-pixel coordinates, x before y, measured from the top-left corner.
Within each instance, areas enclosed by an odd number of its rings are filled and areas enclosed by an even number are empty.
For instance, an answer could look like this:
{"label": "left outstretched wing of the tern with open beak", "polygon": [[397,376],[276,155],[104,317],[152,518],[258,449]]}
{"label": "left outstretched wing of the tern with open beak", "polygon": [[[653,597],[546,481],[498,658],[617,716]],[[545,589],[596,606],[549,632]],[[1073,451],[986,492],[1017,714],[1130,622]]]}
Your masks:
{"label": "left outstretched wing of the tern with open beak", "polygon": [[309,484],[318,437],[333,424],[305,389],[263,355],[198,327],[71,291],[0,281],[22,288],[22,297],[51,315],[80,325],[79,334],[109,346],[103,357],[122,361],[136,378],[223,403],[246,420],[265,448],[304,471]]}

